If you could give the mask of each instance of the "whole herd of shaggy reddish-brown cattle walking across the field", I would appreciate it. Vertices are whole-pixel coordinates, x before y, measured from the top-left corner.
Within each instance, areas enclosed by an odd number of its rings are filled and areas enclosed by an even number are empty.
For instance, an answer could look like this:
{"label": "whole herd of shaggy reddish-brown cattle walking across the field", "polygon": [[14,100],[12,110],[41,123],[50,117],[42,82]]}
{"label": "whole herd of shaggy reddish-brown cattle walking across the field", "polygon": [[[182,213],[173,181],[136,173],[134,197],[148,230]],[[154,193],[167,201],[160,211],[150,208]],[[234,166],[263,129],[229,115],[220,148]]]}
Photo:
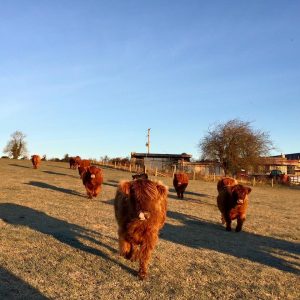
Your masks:
{"label": "whole herd of shaggy reddish-brown cattle walking across the field", "polygon": [[[31,161],[36,169],[41,159],[33,155]],[[70,158],[69,163],[70,168],[78,169],[88,197],[97,197],[103,183],[102,170],[79,156]],[[173,185],[179,199],[183,199],[188,183],[187,174],[174,174]],[[237,219],[235,230],[241,231],[251,188],[238,184],[233,178],[224,177],[218,181],[217,190],[217,206],[222,223],[226,223],[226,230],[231,231],[231,222]],[[132,175],[131,181],[121,181],[116,191],[114,212],[118,223],[119,252],[126,259],[139,260],[140,279],[147,275],[159,230],[166,220],[167,197],[168,187],[160,181],[150,180],[145,173]]]}

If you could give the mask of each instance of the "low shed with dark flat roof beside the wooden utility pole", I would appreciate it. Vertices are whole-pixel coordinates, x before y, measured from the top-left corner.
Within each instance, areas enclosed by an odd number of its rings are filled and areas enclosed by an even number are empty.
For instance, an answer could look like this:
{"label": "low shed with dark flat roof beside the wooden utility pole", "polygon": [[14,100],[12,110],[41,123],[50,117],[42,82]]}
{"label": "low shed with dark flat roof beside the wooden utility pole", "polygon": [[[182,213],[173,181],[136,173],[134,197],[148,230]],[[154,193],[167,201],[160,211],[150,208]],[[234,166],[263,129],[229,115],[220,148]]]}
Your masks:
{"label": "low shed with dark flat roof beside the wooden utility pole", "polygon": [[168,171],[173,166],[180,166],[185,162],[190,162],[192,155],[182,154],[158,154],[158,153],[131,153],[131,163],[146,167],[147,169],[155,169]]}

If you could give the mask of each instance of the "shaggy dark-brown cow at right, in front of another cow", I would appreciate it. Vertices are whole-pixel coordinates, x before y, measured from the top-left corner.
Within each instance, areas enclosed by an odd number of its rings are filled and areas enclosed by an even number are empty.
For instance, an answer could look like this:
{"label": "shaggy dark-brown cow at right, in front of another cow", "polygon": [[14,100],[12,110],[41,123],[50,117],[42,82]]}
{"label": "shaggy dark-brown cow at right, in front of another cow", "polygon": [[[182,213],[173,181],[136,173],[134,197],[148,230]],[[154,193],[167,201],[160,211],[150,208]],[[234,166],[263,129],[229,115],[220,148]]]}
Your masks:
{"label": "shaggy dark-brown cow at right, in front of another cow", "polygon": [[246,219],[248,207],[248,195],[250,187],[241,184],[224,187],[217,197],[218,208],[222,214],[223,223],[226,223],[226,230],[231,231],[231,221],[237,219],[236,232],[242,230]]}

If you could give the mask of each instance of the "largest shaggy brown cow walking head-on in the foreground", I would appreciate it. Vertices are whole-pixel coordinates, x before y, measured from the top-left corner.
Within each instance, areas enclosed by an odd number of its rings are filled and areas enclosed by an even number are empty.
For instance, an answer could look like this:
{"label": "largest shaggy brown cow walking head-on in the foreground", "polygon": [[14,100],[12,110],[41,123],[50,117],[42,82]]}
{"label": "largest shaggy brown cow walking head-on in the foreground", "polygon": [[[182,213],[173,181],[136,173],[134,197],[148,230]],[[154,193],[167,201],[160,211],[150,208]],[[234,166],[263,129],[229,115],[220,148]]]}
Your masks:
{"label": "largest shaggy brown cow walking head-on in the foreground", "polygon": [[147,275],[151,253],[167,213],[168,188],[148,179],[121,181],[114,208],[118,222],[120,255],[139,259],[140,279]]}

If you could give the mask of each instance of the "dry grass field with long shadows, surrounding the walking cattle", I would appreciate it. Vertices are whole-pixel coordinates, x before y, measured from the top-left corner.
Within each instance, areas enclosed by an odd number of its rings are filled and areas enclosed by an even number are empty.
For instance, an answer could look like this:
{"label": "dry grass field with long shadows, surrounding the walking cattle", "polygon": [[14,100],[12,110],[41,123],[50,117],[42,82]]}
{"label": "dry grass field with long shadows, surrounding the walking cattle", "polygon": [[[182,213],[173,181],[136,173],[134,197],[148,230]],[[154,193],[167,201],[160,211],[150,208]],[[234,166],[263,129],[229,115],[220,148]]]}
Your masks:
{"label": "dry grass field with long shadows, surrounding the walking cattle", "polygon": [[[226,232],[216,183],[191,181],[168,217],[149,277],[118,255],[113,198],[127,172],[104,169],[88,200],[67,163],[0,159],[0,299],[300,299],[300,190],[254,187],[244,230]],[[235,225],[235,223],[234,223]]]}

